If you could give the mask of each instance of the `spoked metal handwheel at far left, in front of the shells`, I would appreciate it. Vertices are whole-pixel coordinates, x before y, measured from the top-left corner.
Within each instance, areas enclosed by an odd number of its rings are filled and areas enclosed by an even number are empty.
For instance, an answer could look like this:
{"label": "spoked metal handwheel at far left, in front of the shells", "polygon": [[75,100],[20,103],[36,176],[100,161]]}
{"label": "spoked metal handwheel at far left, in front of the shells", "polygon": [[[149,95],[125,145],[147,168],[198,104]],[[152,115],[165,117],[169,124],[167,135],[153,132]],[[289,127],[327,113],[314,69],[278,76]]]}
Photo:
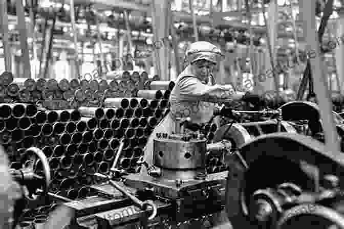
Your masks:
{"label": "spoked metal handwheel at far left, in front of the shells", "polygon": [[22,156],[21,169],[26,187],[25,197],[36,200],[39,195],[48,192],[51,181],[50,167],[46,155],[40,149],[28,148]]}

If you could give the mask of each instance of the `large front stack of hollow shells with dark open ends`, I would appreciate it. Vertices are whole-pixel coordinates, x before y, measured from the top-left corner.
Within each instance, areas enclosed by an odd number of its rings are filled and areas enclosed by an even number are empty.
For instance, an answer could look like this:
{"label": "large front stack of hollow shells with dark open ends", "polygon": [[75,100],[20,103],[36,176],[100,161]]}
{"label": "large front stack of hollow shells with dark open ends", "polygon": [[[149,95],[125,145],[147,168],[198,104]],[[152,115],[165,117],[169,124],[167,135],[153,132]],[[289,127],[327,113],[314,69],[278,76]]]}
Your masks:
{"label": "large front stack of hollow shells with dark open ends", "polygon": [[[56,89],[57,85],[50,82],[50,88]],[[67,83],[63,85],[68,87]],[[97,182],[95,172],[109,172],[121,142],[124,147],[117,167],[138,172],[137,161],[143,156],[149,135],[169,111],[172,88],[169,83],[164,88],[159,85],[165,90],[139,90],[141,98],[106,98],[100,107],[37,110],[28,103],[0,104],[0,140],[11,167],[20,168],[25,163],[25,149],[42,149],[51,167],[49,191],[70,199],[88,195],[90,185]],[[202,132],[211,139],[216,128],[205,125]]]}

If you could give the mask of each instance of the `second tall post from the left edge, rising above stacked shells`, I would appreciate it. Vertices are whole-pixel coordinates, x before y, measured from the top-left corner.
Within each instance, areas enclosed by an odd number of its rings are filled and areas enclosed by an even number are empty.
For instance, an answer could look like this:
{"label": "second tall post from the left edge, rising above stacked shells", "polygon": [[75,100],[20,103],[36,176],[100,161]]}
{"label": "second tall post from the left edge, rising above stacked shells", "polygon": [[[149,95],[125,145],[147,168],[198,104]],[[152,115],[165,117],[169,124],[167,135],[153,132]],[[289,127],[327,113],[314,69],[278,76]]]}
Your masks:
{"label": "second tall post from the left edge, rising above stacked shells", "polygon": [[22,61],[24,63],[24,78],[31,78],[30,56],[28,45],[28,32],[26,29],[25,12],[22,0],[16,0],[16,10],[18,17],[18,29],[20,37],[20,49],[22,50]]}

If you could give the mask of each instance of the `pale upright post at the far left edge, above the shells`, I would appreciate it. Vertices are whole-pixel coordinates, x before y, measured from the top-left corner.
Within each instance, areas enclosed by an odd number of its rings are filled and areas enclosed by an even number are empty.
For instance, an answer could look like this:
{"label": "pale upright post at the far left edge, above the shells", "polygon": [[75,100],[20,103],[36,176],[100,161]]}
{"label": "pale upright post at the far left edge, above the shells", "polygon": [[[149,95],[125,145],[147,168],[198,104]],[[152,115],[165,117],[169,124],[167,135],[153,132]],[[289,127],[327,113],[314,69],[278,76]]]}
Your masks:
{"label": "pale upright post at the far left edge, above the shells", "polygon": [[3,37],[4,55],[5,55],[5,70],[12,72],[12,53],[9,44],[9,31],[8,31],[8,15],[7,15],[7,0],[0,1],[0,22],[1,33]]}

